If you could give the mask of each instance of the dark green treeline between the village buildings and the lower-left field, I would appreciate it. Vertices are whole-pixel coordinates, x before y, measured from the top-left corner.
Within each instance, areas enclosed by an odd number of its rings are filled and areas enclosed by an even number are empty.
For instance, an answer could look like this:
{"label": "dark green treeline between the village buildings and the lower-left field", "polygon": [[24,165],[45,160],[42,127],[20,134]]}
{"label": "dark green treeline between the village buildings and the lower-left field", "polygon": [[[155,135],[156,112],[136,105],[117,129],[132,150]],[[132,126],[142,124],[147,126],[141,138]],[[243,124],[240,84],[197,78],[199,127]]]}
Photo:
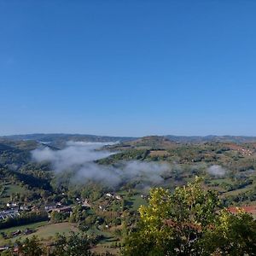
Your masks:
{"label": "dark green treeline between the village buildings and the lower-left field", "polygon": [[48,212],[23,212],[15,218],[6,218],[0,222],[0,229],[8,229],[10,227],[20,226],[24,224],[32,224],[39,221],[48,220]]}

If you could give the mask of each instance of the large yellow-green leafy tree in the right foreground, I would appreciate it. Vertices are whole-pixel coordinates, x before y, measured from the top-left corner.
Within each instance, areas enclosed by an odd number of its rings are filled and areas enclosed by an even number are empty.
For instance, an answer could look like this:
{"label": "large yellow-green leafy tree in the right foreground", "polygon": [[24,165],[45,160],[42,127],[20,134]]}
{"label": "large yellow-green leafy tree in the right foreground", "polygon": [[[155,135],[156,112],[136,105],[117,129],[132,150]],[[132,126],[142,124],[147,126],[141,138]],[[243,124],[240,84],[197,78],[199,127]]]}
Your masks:
{"label": "large yellow-green leafy tree in the right foreground", "polygon": [[238,252],[253,252],[253,218],[244,212],[238,216],[218,212],[218,206],[218,196],[202,189],[198,178],[173,194],[168,189],[152,189],[148,207],[139,209],[137,230],[126,238],[123,254],[241,255],[227,250],[235,241]]}

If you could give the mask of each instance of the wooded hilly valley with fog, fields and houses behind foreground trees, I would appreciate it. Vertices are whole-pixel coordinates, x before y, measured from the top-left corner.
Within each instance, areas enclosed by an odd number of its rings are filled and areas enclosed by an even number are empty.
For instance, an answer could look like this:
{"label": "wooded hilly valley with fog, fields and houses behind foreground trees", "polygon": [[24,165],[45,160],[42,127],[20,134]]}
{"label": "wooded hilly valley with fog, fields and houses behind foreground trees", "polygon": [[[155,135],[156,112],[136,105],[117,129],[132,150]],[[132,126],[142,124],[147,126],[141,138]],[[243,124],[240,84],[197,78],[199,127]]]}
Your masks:
{"label": "wooded hilly valley with fog, fields and houses behind foreground trees", "polygon": [[56,233],[75,231],[93,239],[93,252],[119,254],[150,189],[174,191],[195,177],[222,207],[251,206],[256,218],[255,170],[252,138],[2,137],[0,244],[36,235],[48,245]]}

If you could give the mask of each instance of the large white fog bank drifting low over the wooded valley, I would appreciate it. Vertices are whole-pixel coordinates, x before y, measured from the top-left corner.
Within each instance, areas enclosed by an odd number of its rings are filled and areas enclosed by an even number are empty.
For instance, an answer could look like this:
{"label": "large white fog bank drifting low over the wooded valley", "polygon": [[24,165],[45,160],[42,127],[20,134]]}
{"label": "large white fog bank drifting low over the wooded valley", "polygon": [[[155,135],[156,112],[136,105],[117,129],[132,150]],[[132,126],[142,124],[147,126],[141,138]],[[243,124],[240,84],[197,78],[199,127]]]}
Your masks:
{"label": "large white fog bank drifting low over the wooded valley", "polygon": [[106,150],[99,150],[109,143],[68,142],[67,147],[61,150],[38,148],[32,151],[32,160],[49,161],[56,173],[75,171],[73,181],[85,182],[92,180],[109,186],[129,182],[137,177],[144,183],[161,183],[161,174],[170,170],[166,164],[142,162],[137,160],[122,162],[121,167],[102,166],[95,160],[106,158],[113,154]]}

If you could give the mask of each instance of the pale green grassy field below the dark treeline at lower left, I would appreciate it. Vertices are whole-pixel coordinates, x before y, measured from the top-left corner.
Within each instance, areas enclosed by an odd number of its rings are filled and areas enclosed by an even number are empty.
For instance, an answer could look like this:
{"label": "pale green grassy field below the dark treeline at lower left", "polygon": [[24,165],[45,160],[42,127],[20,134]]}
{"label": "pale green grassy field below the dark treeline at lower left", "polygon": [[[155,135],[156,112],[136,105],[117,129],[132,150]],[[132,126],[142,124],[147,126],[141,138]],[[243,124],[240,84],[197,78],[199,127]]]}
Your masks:
{"label": "pale green grassy field below the dark treeline at lower left", "polygon": [[48,224],[47,221],[44,221],[36,224],[27,224],[19,227],[0,230],[0,232],[4,232],[9,235],[10,233],[16,230],[26,230],[26,228],[35,230],[35,232],[29,235],[15,236],[10,239],[3,239],[3,237],[1,237],[0,245],[8,244],[9,242],[15,242],[17,239],[20,239],[22,241],[26,239],[26,237],[30,238],[32,236],[38,236],[41,239],[48,240],[51,236],[55,236],[56,233],[68,234],[70,231],[74,231],[74,232],[79,231],[76,224],[71,224],[67,222],[58,223],[58,224]]}

